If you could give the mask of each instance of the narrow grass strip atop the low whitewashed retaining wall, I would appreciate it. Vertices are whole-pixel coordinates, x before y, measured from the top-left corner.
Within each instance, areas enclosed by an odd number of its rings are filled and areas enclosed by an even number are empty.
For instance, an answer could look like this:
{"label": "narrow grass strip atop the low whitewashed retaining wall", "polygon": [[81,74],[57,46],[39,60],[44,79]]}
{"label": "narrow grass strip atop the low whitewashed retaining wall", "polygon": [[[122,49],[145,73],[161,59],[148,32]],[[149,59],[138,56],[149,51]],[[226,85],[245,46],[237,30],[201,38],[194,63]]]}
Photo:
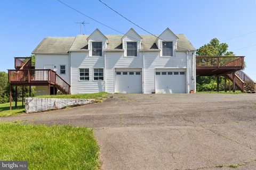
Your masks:
{"label": "narrow grass strip atop the low whitewashed retaining wall", "polygon": [[77,95],[51,95],[51,96],[36,96],[39,98],[62,98],[62,99],[95,99],[95,101],[102,101],[107,95],[106,92],[98,92],[95,94],[77,94]]}

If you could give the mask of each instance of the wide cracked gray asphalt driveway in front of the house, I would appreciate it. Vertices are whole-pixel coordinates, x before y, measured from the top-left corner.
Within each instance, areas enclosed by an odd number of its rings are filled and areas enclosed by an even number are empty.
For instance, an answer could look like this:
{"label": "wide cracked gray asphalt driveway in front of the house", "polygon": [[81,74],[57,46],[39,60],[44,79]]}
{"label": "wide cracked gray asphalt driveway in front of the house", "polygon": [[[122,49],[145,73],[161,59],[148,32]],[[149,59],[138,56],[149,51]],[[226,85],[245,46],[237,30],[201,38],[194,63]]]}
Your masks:
{"label": "wide cracked gray asphalt driveway in front of the house", "polygon": [[0,122],[93,128],[102,169],[256,169],[256,95],[109,96]]}

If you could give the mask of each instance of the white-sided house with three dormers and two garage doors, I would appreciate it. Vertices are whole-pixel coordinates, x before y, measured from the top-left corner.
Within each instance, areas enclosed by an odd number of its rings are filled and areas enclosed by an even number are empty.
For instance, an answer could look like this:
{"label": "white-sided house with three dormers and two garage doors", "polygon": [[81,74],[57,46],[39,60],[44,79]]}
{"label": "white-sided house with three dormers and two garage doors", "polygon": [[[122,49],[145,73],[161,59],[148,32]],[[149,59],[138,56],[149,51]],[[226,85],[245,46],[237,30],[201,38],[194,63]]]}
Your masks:
{"label": "white-sided house with three dormers and two garage doors", "polygon": [[[52,69],[71,86],[71,94],[189,93],[196,89],[195,48],[169,28],[161,35],[46,37],[35,48],[35,69]],[[48,87],[36,87],[37,95]]]}

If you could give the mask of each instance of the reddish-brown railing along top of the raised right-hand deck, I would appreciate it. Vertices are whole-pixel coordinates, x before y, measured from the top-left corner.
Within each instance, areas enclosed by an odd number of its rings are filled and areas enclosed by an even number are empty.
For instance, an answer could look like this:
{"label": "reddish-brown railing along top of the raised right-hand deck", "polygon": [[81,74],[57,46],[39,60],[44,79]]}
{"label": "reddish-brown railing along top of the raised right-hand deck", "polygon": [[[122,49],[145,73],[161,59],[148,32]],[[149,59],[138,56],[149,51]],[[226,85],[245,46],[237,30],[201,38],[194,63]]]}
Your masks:
{"label": "reddish-brown railing along top of the raised right-hand deck", "polygon": [[197,67],[244,67],[244,56],[196,56]]}

